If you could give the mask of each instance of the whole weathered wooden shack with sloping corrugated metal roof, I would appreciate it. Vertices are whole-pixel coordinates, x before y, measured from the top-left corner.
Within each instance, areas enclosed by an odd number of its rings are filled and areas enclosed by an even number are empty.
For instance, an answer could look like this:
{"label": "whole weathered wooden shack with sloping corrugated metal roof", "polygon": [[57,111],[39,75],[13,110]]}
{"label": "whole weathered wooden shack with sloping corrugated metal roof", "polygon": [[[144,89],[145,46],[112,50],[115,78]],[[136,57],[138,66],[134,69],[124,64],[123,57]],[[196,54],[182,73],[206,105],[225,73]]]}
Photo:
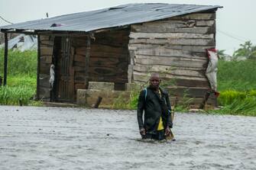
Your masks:
{"label": "whole weathered wooden shack with sloping corrugated metal roof", "polygon": [[73,103],[77,89],[88,88],[88,82],[114,82],[115,90],[125,90],[125,83],[144,83],[151,72],[159,72],[164,82],[173,82],[167,85],[172,96],[186,94],[199,103],[210,88],[206,49],[215,48],[217,8],[129,4],[12,24],[1,31],[37,34],[38,99]]}

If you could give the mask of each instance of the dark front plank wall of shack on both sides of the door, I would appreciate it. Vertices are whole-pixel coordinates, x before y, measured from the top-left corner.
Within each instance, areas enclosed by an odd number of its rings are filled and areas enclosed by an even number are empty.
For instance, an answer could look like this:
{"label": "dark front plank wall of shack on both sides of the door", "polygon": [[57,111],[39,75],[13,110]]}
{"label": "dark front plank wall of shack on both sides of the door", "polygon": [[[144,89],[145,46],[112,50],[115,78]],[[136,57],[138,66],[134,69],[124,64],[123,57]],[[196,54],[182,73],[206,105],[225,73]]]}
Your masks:
{"label": "dark front plank wall of shack on both sides of the door", "polygon": [[[87,36],[70,37],[70,55],[73,57],[73,82],[76,98],[77,89],[85,89],[86,52],[89,50],[89,81],[128,82],[128,40],[129,30],[109,30],[91,37],[87,47]],[[50,64],[52,63],[54,37],[41,35],[40,98],[50,100]],[[60,51],[61,53],[61,51]],[[58,55],[60,55],[60,53]],[[125,87],[125,85],[124,85]]]}

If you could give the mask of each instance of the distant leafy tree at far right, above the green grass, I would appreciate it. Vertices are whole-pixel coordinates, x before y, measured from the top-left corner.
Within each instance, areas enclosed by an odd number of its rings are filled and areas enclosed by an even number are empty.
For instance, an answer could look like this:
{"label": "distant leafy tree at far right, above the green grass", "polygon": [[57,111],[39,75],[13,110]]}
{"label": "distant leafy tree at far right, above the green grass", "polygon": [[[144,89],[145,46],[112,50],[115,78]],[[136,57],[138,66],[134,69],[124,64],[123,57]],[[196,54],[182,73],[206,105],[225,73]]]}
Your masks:
{"label": "distant leafy tree at far right, above the green grass", "polygon": [[253,46],[248,40],[244,44],[240,44],[240,48],[235,50],[233,56],[236,58],[244,56],[246,59],[256,59],[256,46]]}

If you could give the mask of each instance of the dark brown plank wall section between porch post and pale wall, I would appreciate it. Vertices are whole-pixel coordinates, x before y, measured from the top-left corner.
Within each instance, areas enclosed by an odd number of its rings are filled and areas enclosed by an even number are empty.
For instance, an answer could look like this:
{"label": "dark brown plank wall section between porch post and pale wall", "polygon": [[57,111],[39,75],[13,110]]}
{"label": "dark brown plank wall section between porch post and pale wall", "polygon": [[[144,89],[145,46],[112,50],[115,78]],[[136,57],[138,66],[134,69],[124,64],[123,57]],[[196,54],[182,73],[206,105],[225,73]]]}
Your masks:
{"label": "dark brown plank wall section between porch post and pale wall", "polygon": [[128,82],[129,30],[109,30],[92,40],[89,76],[93,82]]}

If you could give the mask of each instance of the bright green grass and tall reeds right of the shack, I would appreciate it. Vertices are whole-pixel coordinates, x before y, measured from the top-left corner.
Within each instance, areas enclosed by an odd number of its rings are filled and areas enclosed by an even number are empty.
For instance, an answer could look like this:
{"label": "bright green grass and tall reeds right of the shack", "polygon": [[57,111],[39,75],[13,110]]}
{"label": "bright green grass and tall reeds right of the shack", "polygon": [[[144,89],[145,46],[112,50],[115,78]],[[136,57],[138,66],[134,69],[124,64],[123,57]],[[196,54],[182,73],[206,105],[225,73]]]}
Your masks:
{"label": "bright green grass and tall reeds right of the shack", "polygon": [[256,60],[219,60],[218,89],[220,95],[218,114],[256,116]]}

